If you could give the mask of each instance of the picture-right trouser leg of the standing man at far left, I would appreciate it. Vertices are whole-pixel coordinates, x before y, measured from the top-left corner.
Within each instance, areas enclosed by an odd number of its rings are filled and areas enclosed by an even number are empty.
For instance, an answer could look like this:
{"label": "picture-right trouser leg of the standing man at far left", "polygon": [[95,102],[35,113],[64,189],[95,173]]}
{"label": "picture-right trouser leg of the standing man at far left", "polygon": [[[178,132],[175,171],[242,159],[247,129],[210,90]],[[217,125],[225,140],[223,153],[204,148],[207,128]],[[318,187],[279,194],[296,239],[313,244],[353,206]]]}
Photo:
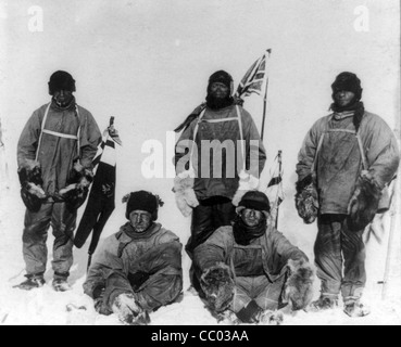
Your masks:
{"label": "picture-right trouser leg of the standing man at far left", "polygon": [[73,266],[74,230],[77,211],[71,213],[65,203],[57,203],[53,207],[51,226],[53,228],[53,261],[55,277],[66,278]]}

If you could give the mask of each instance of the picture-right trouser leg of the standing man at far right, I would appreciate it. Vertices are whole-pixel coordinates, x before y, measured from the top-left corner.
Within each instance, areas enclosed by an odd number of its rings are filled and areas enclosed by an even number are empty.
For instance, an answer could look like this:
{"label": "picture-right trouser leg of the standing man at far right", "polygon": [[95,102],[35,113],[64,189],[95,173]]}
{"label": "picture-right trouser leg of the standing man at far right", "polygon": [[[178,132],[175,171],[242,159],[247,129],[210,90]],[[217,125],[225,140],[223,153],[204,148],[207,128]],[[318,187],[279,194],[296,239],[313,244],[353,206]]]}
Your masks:
{"label": "picture-right trouser leg of the standing man at far right", "polygon": [[343,298],[362,296],[366,284],[365,271],[365,244],[363,242],[363,232],[350,231],[347,222],[343,223],[341,232],[341,248],[344,259],[343,280],[341,294]]}

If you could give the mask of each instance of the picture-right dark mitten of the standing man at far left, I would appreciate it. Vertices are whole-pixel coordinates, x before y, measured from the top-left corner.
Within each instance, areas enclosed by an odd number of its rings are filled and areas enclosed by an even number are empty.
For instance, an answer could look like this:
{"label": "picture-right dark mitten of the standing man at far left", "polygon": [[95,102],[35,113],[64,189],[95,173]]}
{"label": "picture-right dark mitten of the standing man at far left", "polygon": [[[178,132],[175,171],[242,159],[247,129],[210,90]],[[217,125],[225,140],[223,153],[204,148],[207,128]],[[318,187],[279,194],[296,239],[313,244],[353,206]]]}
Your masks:
{"label": "picture-right dark mitten of the standing man at far left", "polygon": [[93,172],[79,163],[75,163],[67,187],[59,192],[70,210],[76,210],[85,203],[92,181]]}

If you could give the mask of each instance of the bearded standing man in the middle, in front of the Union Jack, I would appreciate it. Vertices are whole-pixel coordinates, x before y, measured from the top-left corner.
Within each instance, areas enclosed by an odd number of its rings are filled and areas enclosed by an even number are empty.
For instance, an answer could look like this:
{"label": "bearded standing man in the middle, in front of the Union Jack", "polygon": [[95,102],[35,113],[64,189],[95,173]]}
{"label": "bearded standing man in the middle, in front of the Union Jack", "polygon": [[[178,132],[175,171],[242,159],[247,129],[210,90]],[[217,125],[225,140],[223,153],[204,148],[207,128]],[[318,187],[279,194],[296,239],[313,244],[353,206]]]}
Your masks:
{"label": "bearded standing man in the middle, in front of the Union Jack", "polygon": [[[239,174],[248,170],[259,178],[266,160],[256,126],[235,101],[233,91],[231,76],[224,70],[214,73],[209,79],[206,102],[176,129],[184,131],[176,145],[175,192],[183,214],[192,213],[186,246],[191,258],[197,246],[234,220]],[[192,169],[195,179],[188,177]]]}

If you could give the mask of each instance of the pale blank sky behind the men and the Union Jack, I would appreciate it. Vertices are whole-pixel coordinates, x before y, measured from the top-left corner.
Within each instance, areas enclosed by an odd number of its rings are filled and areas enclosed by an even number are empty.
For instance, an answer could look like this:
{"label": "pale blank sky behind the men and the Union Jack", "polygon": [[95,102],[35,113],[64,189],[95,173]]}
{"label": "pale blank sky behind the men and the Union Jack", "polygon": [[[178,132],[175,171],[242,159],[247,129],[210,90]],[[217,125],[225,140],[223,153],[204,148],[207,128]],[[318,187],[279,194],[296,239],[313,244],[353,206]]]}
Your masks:
{"label": "pale blank sky behind the men and the Union Jack", "polygon": [[[28,29],[33,5],[43,10],[39,33]],[[367,31],[355,29],[360,5],[368,11]],[[277,150],[284,151],[287,194],[279,229],[312,256],[316,226],[305,227],[293,204],[297,154],[313,123],[327,114],[330,85],[343,70],[361,78],[365,107],[396,128],[397,0],[0,0],[0,118],[15,194],[20,133],[32,113],[50,100],[50,75],[64,69],[76,79],[77,102],[93,114],[101,130],[115,116],[123,140],[117,207],[109,226],[124,222],[124,194],[148,189],[166,202],[160,220],[185,243],[189,219],[175,207],[173,180],[142,177],[149,154],[141,153],[141,145],[149,139],[165,142],[166,131],[204,100],[212,73],[227,70],[237,87],[267,48],[273,52],[265,145],[268,165]],[[250,97],[245,107],[260,128],[262,100]],[[15,232],[22,234],[22,202],[16,208],[21,220]],[[106,227],[104,233],[114,229]]]}

